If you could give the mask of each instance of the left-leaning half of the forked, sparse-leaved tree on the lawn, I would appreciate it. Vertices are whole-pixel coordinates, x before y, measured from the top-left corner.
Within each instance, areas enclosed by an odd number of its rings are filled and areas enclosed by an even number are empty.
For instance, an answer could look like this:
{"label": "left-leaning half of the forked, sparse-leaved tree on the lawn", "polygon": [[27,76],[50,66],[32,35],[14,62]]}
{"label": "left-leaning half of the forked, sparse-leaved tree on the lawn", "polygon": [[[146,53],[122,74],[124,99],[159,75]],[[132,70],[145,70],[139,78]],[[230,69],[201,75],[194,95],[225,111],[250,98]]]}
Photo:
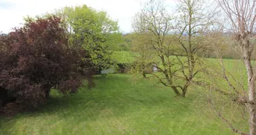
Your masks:
{"label": "left-leaning half of the forked, sparse-leaved tree on the lawn", "polygon": [[[171,87],[176,95],[181,95],[176,85],[176,74],[180,71],[175,67],[178,63],[173,58],[174,44],[177,43],[172,33],[172,18],[164,7],[164,1],[151,0],[144,3],[144,8],[134,17],[133,20],[134,33],[143,35],[143,44],[137,44],[138,49],[141,46],[147,46],[149,53],[155,55],[161,62],[162,66],[157,66],[159,73],[151,73],[151,76],[157,78],[158,83],[162,83],[166,87]],[[146,43],[146,44],[145,44]],[[143,59],[143,58],[142,58]],[[182,87],[181,87],[182,88]]]}

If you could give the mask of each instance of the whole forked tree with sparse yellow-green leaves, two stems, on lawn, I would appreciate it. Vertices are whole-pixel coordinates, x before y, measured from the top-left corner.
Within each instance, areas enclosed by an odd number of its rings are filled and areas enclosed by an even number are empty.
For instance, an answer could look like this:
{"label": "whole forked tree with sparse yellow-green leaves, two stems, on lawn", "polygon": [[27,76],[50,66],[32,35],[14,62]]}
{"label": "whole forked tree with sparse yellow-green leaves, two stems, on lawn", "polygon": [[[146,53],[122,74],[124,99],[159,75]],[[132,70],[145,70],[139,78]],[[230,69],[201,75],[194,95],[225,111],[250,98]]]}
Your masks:
{"label": "whole forked tree with sparse yellow-green leaves, two stems, on lawn", "polygon": [[186,96],[188,87],[198,81],[201,68],[197,65],[201,61],[197,52],[204,48],[205,31],[211,26],[212,16],[203,12],[202,2],[179,1],[179,13],[170,14],[165,1],[151,0],[144,3],[133,20],[134,33],[141,39],[135,44],[139,58],[147,59],[142,57],[144,53],[155,55],[161,63],[157,66],[160,73],[151,73],[151,76],[182,97]]}

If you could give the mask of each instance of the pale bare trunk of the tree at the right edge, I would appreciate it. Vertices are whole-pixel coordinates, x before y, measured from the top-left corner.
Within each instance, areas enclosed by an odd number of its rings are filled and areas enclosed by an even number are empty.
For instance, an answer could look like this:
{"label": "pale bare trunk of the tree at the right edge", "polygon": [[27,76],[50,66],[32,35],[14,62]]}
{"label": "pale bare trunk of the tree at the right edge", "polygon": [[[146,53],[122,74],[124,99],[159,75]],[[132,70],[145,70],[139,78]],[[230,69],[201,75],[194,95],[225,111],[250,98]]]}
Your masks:
{"label": "pale bare trunk of the tree at the right edge", "polygon": [[248,104],[247,108],[249,110],[249,126],[250,132],[249,135],[256,134],[256,117],[255,117],[255,82],[253,79],[254,72],[251,66],[251,50],[249,44],[245,43],[243,45],[244,51],[244,65],[247,69],[247,79],[248,79]]}

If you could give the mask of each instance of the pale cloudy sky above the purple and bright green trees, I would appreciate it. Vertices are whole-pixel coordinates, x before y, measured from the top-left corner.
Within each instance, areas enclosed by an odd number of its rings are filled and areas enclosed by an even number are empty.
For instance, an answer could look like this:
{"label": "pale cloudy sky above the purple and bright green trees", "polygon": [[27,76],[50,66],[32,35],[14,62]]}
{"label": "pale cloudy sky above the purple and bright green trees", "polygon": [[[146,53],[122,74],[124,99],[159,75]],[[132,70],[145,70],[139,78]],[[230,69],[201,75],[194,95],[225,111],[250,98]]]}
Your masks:
{"label": "pale cloudy sky above the purple and bright green trees", "polygon": [[131,20],[140,10],[139,0],[0,0],[0,32],[8,33],[13,27],[20,27],[23,16],[36,16],[65,6],[83,4],[107,11],[113,20],[119,21],[123,33],[131,31]]}

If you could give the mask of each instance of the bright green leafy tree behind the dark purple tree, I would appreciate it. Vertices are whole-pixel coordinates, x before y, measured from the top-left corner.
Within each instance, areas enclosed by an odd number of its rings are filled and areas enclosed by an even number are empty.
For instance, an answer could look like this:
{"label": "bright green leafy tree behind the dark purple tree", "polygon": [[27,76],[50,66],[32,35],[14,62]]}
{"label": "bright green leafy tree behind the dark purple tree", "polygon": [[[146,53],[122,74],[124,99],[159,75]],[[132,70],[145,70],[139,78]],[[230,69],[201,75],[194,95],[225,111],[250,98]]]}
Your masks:
{"label": "bright green leafy tree behind the dark purple tree", "polygon": [[111,20],[107,12],[98,12],[87,5],[66,7],[64,14],[72,30],[69,42],[81,44],[97,68],[108,67],[111,47],[115,44],[112,39],[120,36],[118,23]]}

